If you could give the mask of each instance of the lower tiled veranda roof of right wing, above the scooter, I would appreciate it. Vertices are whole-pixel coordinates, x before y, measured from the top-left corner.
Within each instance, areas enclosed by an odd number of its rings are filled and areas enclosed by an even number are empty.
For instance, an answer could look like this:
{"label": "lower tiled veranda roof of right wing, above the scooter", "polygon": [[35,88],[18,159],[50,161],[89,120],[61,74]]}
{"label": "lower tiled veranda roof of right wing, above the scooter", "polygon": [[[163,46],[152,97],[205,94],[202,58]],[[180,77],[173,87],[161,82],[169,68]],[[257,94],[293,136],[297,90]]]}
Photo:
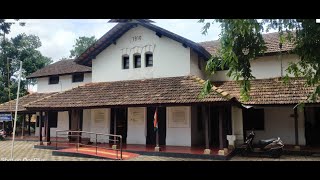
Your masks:
{"label": "lower tiled veranda roof of right wing, above the scooter", "polygon": [[[235,81],[214,82],[218,88],[240,101],[240,86]],[[292,78],[285,84],[281,78],[251,81],[250,100],[243,104],[297,104],[307,100],[313,87],[305,87],[305,80]],[[320,102],[318,100],[317,102]]]}

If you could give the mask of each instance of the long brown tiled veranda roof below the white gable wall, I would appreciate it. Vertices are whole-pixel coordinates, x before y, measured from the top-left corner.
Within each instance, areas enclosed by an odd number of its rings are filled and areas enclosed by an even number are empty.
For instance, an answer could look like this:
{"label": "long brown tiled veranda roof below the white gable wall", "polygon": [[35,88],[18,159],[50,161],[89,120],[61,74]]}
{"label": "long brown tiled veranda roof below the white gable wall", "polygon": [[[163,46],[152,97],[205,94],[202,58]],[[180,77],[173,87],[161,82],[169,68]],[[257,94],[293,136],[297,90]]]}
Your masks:
{"label": "long brown tiled veranda roof below the white gable wall", "polygon": [[[94,108],[148,104],[227,102],[227,93],[216,89],[199,99],[203,80],[194,76],[88,83],[27,104],[27,108]],[[217,93],[219,92],[219,93]]]}

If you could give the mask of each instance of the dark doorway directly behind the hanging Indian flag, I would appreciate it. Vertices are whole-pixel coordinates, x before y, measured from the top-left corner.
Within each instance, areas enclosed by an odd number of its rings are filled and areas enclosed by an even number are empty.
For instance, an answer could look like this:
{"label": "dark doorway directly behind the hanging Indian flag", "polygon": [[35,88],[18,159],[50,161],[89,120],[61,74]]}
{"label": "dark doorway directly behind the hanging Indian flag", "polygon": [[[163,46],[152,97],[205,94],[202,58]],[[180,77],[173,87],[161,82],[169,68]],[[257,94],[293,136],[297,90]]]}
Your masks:
{"label": "dark doorway directly behind the hanging Indian flag", "polygon": [[[146,144],[156,145],[156,132],[153,127],[156,107],[147,107],[147,139]],[[166,107],[158,107],[159,145],[166,145]]]}

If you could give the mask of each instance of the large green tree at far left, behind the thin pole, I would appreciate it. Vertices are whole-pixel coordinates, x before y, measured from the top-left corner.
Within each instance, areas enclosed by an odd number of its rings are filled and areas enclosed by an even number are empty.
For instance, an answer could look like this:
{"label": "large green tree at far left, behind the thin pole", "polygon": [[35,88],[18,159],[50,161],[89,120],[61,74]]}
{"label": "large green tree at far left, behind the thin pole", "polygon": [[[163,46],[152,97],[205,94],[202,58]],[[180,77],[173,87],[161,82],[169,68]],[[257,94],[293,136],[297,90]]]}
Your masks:
{"label": "large green tree at far left, behind the thin pole", "polygon": [[[3,40],[2,40],[3,41]],[[44,66],[50,64],[52,60],[41,54],[39,50],[41,47],[41,41],[39,37],[35,35],[19,34],[14,38],[5,39],[5,45],[2,46],[2,51],[4,53],[0,54],[0,102],[6,102],[9,100],[9,90],[10,99],[16,97],[16,92],[18,88],[17,72],[19,70],[18,61],[7,61],[6,57],[17,59],[22,61],[22,76],[21,76],[21,86],[20,86],[20,97],[27,94],[27,85],[34,83],[33,81],[27,81],[26,76],[35,72],[36,70],[43,68]],[[8,88],[8,70],[10,75],[10,89]]]}

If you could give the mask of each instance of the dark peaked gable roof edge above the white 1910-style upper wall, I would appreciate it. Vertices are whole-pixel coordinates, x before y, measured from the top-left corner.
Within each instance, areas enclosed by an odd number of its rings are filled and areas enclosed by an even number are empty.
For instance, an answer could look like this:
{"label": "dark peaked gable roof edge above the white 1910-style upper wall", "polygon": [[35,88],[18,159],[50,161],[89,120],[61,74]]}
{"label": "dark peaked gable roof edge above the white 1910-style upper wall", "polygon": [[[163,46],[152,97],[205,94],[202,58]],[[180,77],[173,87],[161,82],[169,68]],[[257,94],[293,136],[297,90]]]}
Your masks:
{"label": "dark peaked gable roof edge above the white 1910-style upper wall", "polygon": [[145,19],[143,19],[143,20],[136,19],[135,21],[130,22],[130,23],[118,23],[111,30],[109,30],[106,34],[104,34],[99,40],[97,40],[96,43],[91,45],[75,61],[79,64],[91,65],[91,60],[94,59],[101,51],[103,51],[105,48],[107,48],[112,43],[115,43],[115,41],[118,38],[120,38],[124,33],[126,33],[131,28],[136,27],[137,25],[141,25],[145,28],[148,28],[150,30],[155,31],[159,37],[166,36],[166,37],[171,38],[177,42],[182,43],[184,46],[190,47],[191,49],[193,49],[195,52],[197,52],[200,56],[204,57],[205,59],[208,59],[211,56],[210,53],[208,51],[206,51],[198,43],[195,43],[189,39],[186,39],[182,36],[179,36],[179,35],[172,33],[168,30],[160,28],[154,24],[151,24],[150,22],[148,22]]}

